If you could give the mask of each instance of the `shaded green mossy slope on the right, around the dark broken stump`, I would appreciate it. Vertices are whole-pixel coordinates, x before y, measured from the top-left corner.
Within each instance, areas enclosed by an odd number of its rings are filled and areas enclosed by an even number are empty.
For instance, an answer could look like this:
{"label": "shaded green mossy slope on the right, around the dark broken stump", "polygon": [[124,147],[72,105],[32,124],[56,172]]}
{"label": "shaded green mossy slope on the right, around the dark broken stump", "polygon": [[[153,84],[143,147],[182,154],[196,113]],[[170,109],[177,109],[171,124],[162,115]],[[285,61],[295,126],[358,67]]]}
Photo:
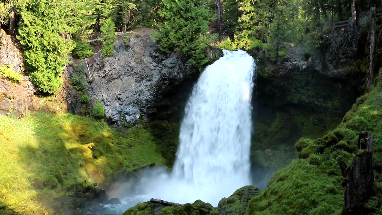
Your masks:
{"label": "shaded green mossy slope on the right, around the dark broken stump", "polygon": [[[354,153],[357,153],[359,130],[365,128],[374,135],[373,157],[376,163],[382,165],[382,85],[360,97],[335,130],[317,140],[298,142],[299,147],[296,148],[303,148],[300,156],[308,158],[294,160],[275,173],[268,187],[251,200],[246,215],[340,213],[343,207],[343,177],[338,161],[351,163]],[[324,154],[314,154],[318,145],[325,147]],[[345,150],[332,153],[333,148]],[[329,160],[324,160],[325,157]],[[375,178],[380,181],[380,174],[376,174]],[[377,182],[377,193],[381,188]],[[376,209],[376,214],[382,214],[381,199],[381,196],[375,197],[369,203]]]}

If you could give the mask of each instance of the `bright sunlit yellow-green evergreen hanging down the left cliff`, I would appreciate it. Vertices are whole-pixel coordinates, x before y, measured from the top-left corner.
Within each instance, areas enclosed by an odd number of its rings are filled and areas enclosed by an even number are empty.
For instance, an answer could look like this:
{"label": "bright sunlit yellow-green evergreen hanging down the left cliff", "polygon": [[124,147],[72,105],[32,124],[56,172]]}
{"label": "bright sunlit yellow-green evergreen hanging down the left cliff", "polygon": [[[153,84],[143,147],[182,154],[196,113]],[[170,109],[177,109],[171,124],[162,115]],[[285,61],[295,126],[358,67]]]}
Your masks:
{"label": "bright sunlit yellow-green evergreen hanging down the left cliff", "polygon": [[[55,93],[62,85],[61,73],[74,43],[62,33],[74,33],[69,0],[31,0],[21,11],[17,38],[31,80],[40,91]],[[28,8],[28,9],[27,9]]]}

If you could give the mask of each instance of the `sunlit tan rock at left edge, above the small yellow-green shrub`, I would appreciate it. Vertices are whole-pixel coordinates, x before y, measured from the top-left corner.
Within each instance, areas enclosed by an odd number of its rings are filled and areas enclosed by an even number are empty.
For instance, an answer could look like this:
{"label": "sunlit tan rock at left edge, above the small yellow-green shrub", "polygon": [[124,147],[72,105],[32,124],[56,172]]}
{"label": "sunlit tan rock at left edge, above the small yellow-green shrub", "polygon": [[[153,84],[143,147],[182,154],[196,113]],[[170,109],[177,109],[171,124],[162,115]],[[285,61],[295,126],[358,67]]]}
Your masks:
{"label": "sunlit tan rock at left edge, above the small yellow-green shrub", "polygon": [[12,65],[13,71],[24,73],[23,54],[3,29],[0,29],[0,66]]}

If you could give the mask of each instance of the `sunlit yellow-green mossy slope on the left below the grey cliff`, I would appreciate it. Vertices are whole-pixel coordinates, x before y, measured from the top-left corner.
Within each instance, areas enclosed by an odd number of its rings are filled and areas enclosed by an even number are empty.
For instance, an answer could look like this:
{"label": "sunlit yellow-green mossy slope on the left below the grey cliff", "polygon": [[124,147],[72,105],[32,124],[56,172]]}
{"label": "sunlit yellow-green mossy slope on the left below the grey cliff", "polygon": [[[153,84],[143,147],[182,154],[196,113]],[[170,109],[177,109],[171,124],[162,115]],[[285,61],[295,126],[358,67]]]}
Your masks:
{"label": "sunlit yellow-green mossy slope on the left below the grey cliff", "polygon": [[165,163],[149,130],[118,133],[71,114],[0,116],[0,144],[0,208],[14,204],[1,214],[55,209],[54,197],[71,194],[81,178],[102,186],[121,170]]}

